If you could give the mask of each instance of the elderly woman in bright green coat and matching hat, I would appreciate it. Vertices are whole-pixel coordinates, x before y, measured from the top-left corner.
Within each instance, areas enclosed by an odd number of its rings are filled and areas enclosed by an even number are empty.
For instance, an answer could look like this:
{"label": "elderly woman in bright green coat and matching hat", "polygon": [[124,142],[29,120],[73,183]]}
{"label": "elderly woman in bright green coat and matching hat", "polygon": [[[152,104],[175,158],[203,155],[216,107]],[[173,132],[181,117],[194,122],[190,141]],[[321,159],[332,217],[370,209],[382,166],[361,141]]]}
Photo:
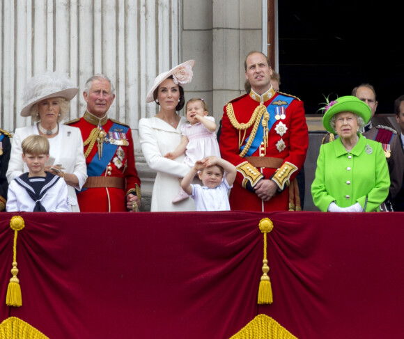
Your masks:
{"label": "elderly woman in bright green coat and matching hat", "polygon": [[321,145],[314,204],[323,212],[374,212],[389,193],[390,178],[382,144],[359,133],[371,109],[357,97],[339,97],[324,108],[323,125],[339,138]]}

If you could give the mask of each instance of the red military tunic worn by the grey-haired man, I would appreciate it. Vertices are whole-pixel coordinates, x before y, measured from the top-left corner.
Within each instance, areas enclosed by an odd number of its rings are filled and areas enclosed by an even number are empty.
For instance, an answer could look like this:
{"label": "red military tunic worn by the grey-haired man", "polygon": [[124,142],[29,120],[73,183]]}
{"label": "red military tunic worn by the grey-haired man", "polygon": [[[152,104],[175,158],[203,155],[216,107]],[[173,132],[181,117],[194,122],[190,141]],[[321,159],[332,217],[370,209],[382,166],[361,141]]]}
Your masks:
{"label": "red military tunic worn by the grey-haired man", "polygon": [[[107,137],[108,132],[110,132],[110,129],[114,124],[118,124],[126,128],[128,127],[127,125],[118,123],[118,121],[103,118],[100,121],[100,125],[102,126],[104,132],[106,132]],[[86,145],[86,140],[90,136],[93,129],[98,127],[98,121],[95,121],[94,116],[91,116],[88,112],[86,112],[82,118],[73,120],[67,123],[67,125],[78,127],[81,130],[81,136],[83,137],[84,141],[84,154],[86,155],[88,148],[91,147],[91,143]],[[119,131],[111,129],[111,132],[116,133]],[[81,212],[125,212],[127,211],[127,194],[134,194],[140,198],[140,180],[135,167],[134,145],[130,128],[126,132],[125,139],[127,140],[127,145],[120,145],[116,148],[115,154],[113,157],[111,157],[111,160],[109,160],[109,163],[107,166],[105,166],[104,171],[100,175],[102,177],[116,177],[125,179],[125,189],[115,187],[96,187],[84,189],[77,194],[77,200],[79,202]],[[105,152],[103,152],[102,157],[105,156]],[[97,142],[95,142],[95,145],[93,145],[91,152],[86,155],[87,166],[94,157],[98,158]]]}

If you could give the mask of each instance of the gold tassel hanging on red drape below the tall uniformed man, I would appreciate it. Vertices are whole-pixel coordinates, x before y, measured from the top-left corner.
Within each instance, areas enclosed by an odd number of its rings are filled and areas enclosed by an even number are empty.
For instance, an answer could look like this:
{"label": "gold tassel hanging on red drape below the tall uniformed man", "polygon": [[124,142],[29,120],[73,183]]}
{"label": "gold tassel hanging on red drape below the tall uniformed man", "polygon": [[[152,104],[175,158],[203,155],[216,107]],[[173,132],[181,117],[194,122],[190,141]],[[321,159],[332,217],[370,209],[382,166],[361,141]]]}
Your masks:
{"label": "gold tassel hanging on red drape below the tall uniformed man", "polygon": [[267,233],[272,231],[274,224],[268,218],[261,219],[259,228],[264,235],[264,259],[263,259],[263,276],[261,276],[260,285],[258,287],[258,304],[272,303],[272,286],[268,272],[270,267],[267,265]]}

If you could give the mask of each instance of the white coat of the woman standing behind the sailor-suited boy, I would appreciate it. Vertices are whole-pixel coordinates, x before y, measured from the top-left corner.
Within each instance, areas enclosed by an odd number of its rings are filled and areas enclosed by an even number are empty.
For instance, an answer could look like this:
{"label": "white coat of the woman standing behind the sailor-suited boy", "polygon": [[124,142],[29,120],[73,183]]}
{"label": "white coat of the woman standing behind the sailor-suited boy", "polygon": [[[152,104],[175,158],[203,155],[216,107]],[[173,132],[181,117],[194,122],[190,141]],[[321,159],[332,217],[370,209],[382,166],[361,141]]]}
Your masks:
{"label": "white coat of the woman standing behind the sailor-suited boy", "polygon": [[[29,168],[22,161],[22,141],[32,134],[39,135],[37,125],[15,129],[13,144],[11,145],[10,162],[8,163],[7,180],[10,183],[14,178],[22,173],[29,172]],[[65,173],[72,173],[77,176],[79,185],[72,187],[68,185],[68,203],[72,212],[80,212],[77,203],[76,189],[80,190],[87,180],[86,158],[83,152],[83,139],[80,129],[61,125],[59,123],[59,133],[49,141],[49,155],[54,157],[54,164],[61,164]]]}

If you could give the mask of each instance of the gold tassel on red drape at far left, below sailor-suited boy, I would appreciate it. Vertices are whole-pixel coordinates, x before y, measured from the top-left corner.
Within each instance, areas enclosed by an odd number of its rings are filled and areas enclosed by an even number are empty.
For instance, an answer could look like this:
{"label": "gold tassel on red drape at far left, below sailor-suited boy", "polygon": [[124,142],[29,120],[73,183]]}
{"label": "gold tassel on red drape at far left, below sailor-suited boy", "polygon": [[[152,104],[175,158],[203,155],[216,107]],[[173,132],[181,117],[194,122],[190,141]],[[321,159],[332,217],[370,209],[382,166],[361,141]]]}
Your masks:
{"label": "gold tassel on red drape at far left, below sailor-suited boy", "polygon": [[20,307],[22,306],[22,295],[20,280],[17,278],[17,235],[18,231],[25,227],[24,219],[22,219],[21,216],[13,216],[10,221],[10,227],[14,230],[13,268],[11,269],[11,274],[13,274],[13,277],[10,278],[10,283],[8,283],[6,305]]}

